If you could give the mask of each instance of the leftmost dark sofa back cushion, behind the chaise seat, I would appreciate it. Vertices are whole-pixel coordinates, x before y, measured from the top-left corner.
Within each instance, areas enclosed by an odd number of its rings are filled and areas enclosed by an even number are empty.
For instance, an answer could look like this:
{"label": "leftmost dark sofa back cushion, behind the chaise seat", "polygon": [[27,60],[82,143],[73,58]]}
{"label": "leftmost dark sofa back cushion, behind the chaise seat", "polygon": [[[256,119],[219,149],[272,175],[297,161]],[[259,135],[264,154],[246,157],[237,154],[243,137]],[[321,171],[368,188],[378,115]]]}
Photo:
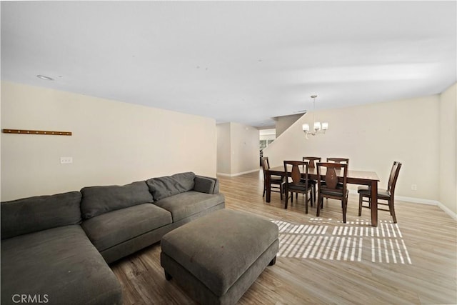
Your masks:
{"label": "leftmost dark sofa back cushion, behind the chaise seat", "polygon": [[80,203],[79,191],[1,202],[1,239],[80,224]]}

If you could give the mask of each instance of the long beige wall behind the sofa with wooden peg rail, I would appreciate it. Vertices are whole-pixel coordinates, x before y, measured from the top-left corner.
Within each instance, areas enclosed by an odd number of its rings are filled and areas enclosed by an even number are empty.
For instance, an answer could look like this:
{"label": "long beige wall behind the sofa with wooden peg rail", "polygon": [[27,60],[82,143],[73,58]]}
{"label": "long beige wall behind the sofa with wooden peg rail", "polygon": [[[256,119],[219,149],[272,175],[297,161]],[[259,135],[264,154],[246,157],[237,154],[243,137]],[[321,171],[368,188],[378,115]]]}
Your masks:
{"label": "long beige wall behind the sofa with wooden peg rail", "polygon": [[216,122],[201,116],[2,82],[1,128],[73,132],[2,133],[2,201],[181,171],[216,175]]}

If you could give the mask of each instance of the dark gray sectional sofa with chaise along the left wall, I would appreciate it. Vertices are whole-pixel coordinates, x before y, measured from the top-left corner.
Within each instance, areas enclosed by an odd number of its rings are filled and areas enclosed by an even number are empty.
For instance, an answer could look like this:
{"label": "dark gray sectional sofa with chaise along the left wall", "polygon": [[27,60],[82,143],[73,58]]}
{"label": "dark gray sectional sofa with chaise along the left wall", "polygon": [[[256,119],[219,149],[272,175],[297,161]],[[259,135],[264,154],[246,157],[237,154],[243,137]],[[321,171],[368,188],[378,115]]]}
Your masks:
{"label": "dark gray sectional sofa with chaise along the left wall", "polygon": [[224,202],[191,172],[1,202],[1,304],[122,304],[108,264]]}

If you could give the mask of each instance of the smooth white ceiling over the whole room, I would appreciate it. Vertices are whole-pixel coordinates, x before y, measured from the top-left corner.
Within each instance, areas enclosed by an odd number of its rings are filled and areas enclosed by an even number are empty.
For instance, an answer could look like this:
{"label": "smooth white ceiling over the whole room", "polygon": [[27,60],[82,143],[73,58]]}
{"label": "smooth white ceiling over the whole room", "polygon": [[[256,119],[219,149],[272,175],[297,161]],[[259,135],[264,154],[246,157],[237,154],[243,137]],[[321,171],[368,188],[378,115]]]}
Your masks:
{"label": "smooth white ceiling over the whole room", "polygon": [[[441,93],[456,1],[1,1],[1,79],[271,126]],[[50,76],[43,81],[37,74]]]}

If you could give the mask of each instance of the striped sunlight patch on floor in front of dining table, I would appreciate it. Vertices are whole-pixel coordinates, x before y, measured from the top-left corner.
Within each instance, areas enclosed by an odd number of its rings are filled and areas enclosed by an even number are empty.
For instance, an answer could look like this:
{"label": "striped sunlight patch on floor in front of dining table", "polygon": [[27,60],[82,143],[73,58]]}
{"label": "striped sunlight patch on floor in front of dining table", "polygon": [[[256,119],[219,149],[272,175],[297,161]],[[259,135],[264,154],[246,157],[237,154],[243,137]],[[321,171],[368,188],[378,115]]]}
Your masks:
{"label": "striped sunlight patch on floor in front of dining table", "polygon": [[363,219],[346,224],[321,218],[309,224],[271,221],[279,229],[279,257],[412,264],[398,224],[392,221],[379,221],[376,228]]}

